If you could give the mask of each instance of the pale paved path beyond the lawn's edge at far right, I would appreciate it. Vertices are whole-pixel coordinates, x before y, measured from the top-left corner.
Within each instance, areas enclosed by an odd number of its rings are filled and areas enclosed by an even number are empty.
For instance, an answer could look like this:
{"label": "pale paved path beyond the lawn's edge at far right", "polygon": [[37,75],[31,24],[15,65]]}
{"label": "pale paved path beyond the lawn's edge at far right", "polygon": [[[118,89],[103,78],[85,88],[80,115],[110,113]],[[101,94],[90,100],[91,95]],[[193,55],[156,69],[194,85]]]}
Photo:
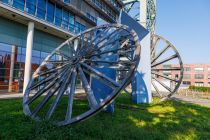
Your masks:
{"label": "pale paved path beyond the lawn's edge at far right", "polygon": [[210,107],[210,100],[209,99],[201,99],[198,97],[192,97],[192,96],[183,96],[183,95],[175,95],[172,97],[172,99],[179,100],[179,101],[185,101],[192,104],[198,104],[201,106],[208,106]]}

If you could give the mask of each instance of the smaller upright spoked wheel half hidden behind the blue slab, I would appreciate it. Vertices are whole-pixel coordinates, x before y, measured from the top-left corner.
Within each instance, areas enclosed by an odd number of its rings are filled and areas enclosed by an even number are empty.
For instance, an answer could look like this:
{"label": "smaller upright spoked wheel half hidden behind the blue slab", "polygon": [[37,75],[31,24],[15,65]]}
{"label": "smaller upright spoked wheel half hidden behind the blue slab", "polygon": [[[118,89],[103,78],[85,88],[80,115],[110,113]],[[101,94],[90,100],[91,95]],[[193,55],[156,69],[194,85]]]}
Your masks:
{"label": "smaller upright spoked wheel half hidden behind the blue slab", "polygon": [[183,63],[177,49],[158,35],[152,35],[151,67],[153,95],[166,99],[175,94],[182,82]]}

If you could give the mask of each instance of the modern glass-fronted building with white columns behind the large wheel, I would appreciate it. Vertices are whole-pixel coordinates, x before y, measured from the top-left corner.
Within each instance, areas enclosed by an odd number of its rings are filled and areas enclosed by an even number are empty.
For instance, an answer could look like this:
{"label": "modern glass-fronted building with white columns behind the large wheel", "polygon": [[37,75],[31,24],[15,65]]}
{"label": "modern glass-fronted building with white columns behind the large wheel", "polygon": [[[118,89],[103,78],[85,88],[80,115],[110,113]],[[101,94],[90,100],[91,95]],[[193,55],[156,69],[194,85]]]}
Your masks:
{"label": "modern glass-fronted building with white columns behind the large wheel", "polygon": [[0,0],[0,90],[21,92],[59,44],[98,17],[117,22],[122,7],[121,0]]}

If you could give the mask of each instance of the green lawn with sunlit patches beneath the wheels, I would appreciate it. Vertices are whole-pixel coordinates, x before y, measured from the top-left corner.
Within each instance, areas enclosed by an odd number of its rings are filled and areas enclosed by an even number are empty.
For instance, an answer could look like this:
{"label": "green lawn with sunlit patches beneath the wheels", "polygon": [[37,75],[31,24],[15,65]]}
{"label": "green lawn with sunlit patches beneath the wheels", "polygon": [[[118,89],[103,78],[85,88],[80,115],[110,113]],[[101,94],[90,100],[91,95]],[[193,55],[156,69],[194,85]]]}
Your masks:
{"label": "green lawn with sunlit patches beneath the wheels", "polygon": [[210,140],[210,108],[178,101],[135,105],[116,100],[114,114],[101,112],[67,127],[25,117],[21,99],[0,100],[0,139],[202,139]]}

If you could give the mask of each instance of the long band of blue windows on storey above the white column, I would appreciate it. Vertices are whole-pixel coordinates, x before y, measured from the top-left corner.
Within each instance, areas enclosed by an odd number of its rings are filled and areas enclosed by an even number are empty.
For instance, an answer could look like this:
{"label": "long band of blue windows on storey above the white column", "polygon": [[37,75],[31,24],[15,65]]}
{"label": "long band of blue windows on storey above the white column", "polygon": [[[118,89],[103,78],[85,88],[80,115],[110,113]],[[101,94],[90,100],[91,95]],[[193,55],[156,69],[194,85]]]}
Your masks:
{"label": "long band of blue windows on storey above the white column", "polygon": [[[75,21],[74,15],[69,11],[49,0],[10,0],[10,2],[0,0],[0,2],[9,4],[15,9],[34,15],[75,34],[86,29],[85,25]],[[63,2],[70,3],[70,0],[63,0]],[[96,20],[93,17],[91,18],[94,21]]]}

